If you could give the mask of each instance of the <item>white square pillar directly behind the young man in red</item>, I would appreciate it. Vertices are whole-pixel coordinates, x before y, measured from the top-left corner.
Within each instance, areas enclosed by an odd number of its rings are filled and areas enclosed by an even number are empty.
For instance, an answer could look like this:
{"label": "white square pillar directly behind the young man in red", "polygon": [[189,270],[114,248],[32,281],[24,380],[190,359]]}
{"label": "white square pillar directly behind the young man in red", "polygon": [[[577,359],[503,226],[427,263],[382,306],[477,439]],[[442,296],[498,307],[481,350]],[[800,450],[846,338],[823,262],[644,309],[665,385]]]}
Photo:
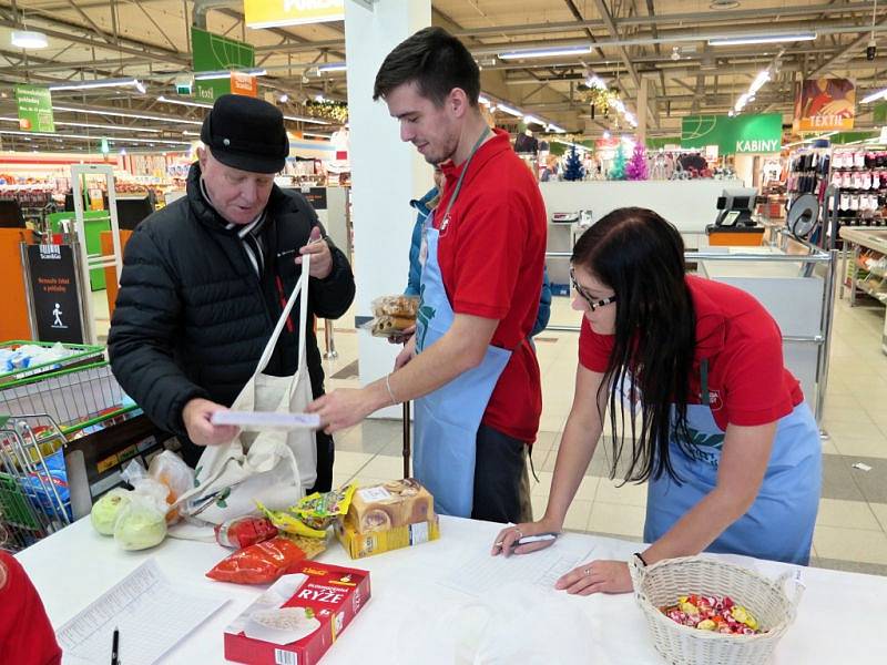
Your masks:
{"label": "white square pillar directly behind the young man in red", "polygon": [[[430,0],[376,0],[373,11],[345,0],[357,316],[371,316],[374,298],[406,288],[416,221],[409,200],[434,184],[431,166],[411,144],[400,141],[400,127],[385,102],[373,101],[376,72],[385,57],[430,24]],[[366,385],[391,371],[400,347],[366,330],[358,330],[358,336],[360,382]],[[400,408],[377,416],[396,418]]]}

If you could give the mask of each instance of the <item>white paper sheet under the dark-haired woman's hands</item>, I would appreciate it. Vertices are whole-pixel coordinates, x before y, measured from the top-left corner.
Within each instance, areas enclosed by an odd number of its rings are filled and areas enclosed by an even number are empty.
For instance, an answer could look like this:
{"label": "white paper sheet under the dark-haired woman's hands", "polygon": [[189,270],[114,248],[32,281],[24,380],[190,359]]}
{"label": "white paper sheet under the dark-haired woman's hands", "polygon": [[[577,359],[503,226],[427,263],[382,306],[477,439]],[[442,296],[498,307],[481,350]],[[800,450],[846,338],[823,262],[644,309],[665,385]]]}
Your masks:
{"label": "white paper sheet under the dark-haired woman's hands", "polygon": [[563,542],[530,554],[509,557],[490,556],[478,551],[460,561],[438,580],[439,584],[479,596],[514,582],[537,584],[551,589],[558,577],[584,561],[591,561],[592,550],[578,551]]}

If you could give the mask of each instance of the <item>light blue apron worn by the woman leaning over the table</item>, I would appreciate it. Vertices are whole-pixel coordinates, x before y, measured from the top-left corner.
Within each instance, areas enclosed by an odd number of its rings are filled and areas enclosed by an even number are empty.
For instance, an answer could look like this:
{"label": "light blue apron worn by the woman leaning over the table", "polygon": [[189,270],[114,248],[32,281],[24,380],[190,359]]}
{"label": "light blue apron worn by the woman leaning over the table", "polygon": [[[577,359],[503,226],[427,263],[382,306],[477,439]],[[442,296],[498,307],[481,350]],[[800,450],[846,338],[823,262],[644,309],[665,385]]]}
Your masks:
{"label": "light blue apron worn by the woman leaning over the table", "polygon": [[[672,434],[669,456],[682,484],[669,474],[650,480],[644,541],[652,543],[699,503],[717,483],[724,431],[712,413],[707,360],[702,361],[702,405],[687,405],[692,443]],[[801,402],[776,424],[767,470],[757,498],[708,552],[746,554],[807,565],[822,488],[822,444],[809,407]]]}

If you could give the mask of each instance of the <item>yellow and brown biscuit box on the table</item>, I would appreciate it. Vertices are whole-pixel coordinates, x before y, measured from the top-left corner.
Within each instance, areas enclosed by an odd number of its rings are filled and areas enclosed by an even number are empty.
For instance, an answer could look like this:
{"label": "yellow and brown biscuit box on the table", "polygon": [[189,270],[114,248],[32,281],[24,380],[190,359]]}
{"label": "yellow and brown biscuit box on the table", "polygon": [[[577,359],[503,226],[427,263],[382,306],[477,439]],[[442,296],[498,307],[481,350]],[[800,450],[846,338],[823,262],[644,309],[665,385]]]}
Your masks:
{"label": "yellow and brown biscuit box on the table", "polygon": [[440,538],[434,497],[407,478],[360,488],[336,533],[351,559]]}

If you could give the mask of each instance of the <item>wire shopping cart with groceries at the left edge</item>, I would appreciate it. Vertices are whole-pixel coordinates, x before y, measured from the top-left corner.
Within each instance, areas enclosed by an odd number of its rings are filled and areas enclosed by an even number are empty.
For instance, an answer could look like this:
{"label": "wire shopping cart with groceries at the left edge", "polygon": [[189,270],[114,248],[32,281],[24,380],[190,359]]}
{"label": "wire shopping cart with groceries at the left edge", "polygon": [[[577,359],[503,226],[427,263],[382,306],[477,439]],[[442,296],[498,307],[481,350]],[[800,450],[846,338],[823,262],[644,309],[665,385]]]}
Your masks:
{"label": "wire shopping cart with groceries at the left edge", "polygon": [[64,447],[139,413],[108,362],[0,386],[0,546],[18,551],[69,524]]}

